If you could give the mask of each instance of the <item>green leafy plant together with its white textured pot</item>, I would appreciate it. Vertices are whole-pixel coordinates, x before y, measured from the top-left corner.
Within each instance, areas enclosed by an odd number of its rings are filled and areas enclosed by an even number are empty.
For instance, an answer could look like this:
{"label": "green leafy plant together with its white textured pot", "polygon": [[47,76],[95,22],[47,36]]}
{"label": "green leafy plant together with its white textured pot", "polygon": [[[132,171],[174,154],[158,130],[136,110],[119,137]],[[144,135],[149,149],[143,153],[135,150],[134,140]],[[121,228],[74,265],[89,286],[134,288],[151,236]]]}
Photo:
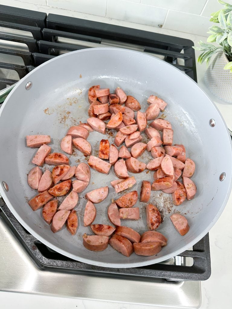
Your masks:
{"label": "green leafy plant together with its white textured pot", "polygon": [[208,63],[214,54],[217,54],[205,73],[205,83],[210,91],[218,98],[232,103],[232,4],[217,0],[224,6],[223,9],[212,13],[211,19],[216,23],[209,28],[210,36],[207,42],[216,42],[217,45],[198,42],[202,51],[197,62]]}

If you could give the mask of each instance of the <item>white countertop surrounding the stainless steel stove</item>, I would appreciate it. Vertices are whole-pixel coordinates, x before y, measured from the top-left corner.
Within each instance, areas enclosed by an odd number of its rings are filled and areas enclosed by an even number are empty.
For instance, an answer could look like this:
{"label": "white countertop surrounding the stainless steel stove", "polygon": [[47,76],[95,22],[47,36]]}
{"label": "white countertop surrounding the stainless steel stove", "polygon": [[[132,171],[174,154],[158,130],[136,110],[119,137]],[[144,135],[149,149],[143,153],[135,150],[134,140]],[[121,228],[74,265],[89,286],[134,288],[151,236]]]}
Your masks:
{"label": "white countertop surrounding the stainless steel stove", "polygon": [[[86,18],[85,14],[79,18]],[[88,18],[87,18],[88,19]],[[97,21],[106,22],[105,18],[97,17],[94,18]],[[117,24],[126,27],[132,27],[152,32],[163,33],[171,36],[178,36],[190,39],[196,45],[199,40],[206,41],[205,37],[187,34],[183,32],[177,32],[172,30],[166,30],[161,28],[153,28],[150,26],[143,26],[139,24],[133,24],[128,22],[122,22],[119,20],[109,20],[109,23]],[[196,55],[198,56],[198,52]],[[206,91],[207,89],[204,86],[204,72],[206,70],[205,64],[202,66],[197,65],[197,76],[198,83]],[[210,93],[208,93],[210,95]],[[232,104],[226,104],[219,99],[215,98],[213,95],[210,95],[214,102],[217,104],[217,107],[221,111],[224,119],[232,129]],[[232,194],[227,203],[227,206],[222,213],[221,217],[213,226],[209,232],[210,239],[210,250],[211,250],[211,277],[207,281],[201,282],[201,293],[202,293],[202,305],[201,309],[218,309],[218,308],[229,308],[231,306],[231,291],[232,291]],[[1,280],[1,278],[0,278]],[[56,309],[95,309],[100,308],[110,308],[110,309],[148,309],[148,308],[161,308],[156,306],[141,306],[141,305],[132,305],[120,303],[110,303],[110,302],[101,302],[101,301],[92,301],[92,300],[83,300],[83,299],[73,299],[73,298],[57,298],[49,296],[38,296],[32,294],[18,294],[18,293],[9,293],[9,292],[0,292],[0,307],[6,309],[9,307],[16,307],[18,309],[50,309],[54,307]],[[164,307],[162,307],[165,309]]]}

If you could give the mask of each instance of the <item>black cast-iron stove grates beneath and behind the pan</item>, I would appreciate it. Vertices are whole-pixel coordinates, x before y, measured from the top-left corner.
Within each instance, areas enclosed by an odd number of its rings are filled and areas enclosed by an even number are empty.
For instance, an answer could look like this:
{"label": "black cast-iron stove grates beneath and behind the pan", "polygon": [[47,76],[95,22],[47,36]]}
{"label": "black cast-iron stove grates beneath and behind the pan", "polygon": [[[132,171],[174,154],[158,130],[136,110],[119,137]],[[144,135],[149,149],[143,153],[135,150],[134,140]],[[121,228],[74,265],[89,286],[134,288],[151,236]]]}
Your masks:
{"label": "black cast-iron stove grates beneath and behind the pan", "polygon": [[[45,13],[3,5],[0,5],[0,27],[31,33],[30,38],[18,34],[0,34],[1,40],[23,43],[28,47],[27,51],[0,47],[0,54],[22,58],[24,65],[20,66],[0,62],[0,68],[15,70],[19,74],[19,78],[24,77],[35,67],[63,52],[96,45],[101,46],[102,44],[108,44],[108,46],[127,44],[126,47],[129,46],[130,49],[162,55],[165,61],[197,81],[195,53],[191,47],[193,45],[191,40],[67,16],[54,14],[47,16]],[[59,38],[62,38],[63,41]],[[65,41],[67,39],[71,39],[71,42]],[[5,87],[15,82],[14,79],[0,78],[0,84],[5,85]],[[187,250],[179,255],[179,257],[191,257],[193,259],[192,266],[178,263],[180,265],[154,264],[129,269],[104,268],[74,261],[51,251],[21,226],[2,199],[0,199],[0,208],[1,217],[9,223],[15,235],[41,268],[97,273],[98,276],[114,274],[121,277],[169,278],[174,280],[206,280],[211,274],[208,234],[193,246],[193,250]]]}

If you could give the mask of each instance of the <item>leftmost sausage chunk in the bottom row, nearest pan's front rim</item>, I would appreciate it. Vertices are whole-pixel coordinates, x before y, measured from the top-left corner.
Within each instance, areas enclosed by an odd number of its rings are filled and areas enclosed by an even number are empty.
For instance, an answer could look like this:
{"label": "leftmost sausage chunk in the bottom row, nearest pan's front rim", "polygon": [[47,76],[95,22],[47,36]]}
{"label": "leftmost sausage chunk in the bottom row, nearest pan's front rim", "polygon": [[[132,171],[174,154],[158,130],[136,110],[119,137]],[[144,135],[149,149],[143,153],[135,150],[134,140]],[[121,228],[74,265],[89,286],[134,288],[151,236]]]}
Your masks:
{"label": "leftmost sausage chunk in the bottom row, nearest pan's front rim", "polygon": [[91,251],[103,251],[108,246],[109,237],[100,235],[86,235],[83,236],[83,245]]}

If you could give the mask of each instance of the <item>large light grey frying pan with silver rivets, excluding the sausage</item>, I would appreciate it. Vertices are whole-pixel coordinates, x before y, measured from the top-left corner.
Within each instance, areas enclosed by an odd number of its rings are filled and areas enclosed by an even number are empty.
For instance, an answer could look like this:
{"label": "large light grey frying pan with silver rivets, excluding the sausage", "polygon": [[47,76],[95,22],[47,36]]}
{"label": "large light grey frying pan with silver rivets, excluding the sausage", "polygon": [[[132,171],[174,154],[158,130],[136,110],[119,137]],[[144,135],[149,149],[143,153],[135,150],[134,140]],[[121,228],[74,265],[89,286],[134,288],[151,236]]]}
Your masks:
{"label": "large light grey frying pan with silver rivets, excluding the sausage", "polygon": [[[32,86],[26,87],[28,82]],[[71,125],[88,118],[88,88],[100,84],[113,92],[121,87],[127,95],[133,95],[147,108],[147,98],[155,94],[168,105],[161,115],[169,120],[174,129],[174,143],[184,144],[187,157],[195,161],[196,170],[192,180],[197,186],[197,194],[192,201],[184,201],[174,206],[170,195],[152,191],[150,202],[157,205],[163,217],[158,231],[168,238],[168,244],[156,256],[129,258],[108,246],[105,251],[92,252],[84,248],[82,235],[92,234],[90,227],[84,227],[83,214],[86,200],[84,194],[94,188],[108,185],[109,196],[96,204],[97,217],[94,223],[110,224],[107,207],[116,194],[110,181],[116,179],[113,168],[108,175],[91,169],[91,181],[84,193],[79,194],[76,207],[79,228],[71,236],[64,227],[54,234],[41,216],[41,211],[33,212],[27,201],[36,195],[27,184],[27,173],[33,167],[31,160],[37,149],[27,148],[25,136],[29,134],[49,134],[52,138],[52,151],[62,152],[60,141]],[[215,126],[210,125],[213,119]],[[212,122],[212,121],[211,121]],[[0,110],[0,192],[11,212],[19,222],[37,239],[49,248],[93,265],[108,267],[137,267],[158,263],[190,248],[199,241],[214,225],[222,213],[231,190],[231,139],[226,125],[209,97],[188,76],[173,66],[144,53],[117,48],[93,48],[66,53],[34,69],[19,81],[11,91]],[[98,132],[90,133],[88,141],[92,154],[97,155],[99,141],[108,138]],[[147,139],[143,135],[143,141]],[[152,159],[145,151],[140,160],[148,163]],[[76,150],[70,156],[71,165],[87,162]],[[52,169],[51,166],[44,166]],[[223,179],[222,173],[226,174]],[[141,181],[153,181],[153,172],[143,171],[135,176],[137,183],[132,188],[140,193]],[[220,180],[220,175],[221,180]],[[9,190],[6,191],[2,181]],[[64,197],[63,197],[64,198]],[[62,201],[63,198],[60,198]],[[147,230],[145,203],[137,201],[134,207],[140,208],[140,220],[121,220],[139,233]],[[190,230],[180,236],[172,226],[170,215],[184,214]]]}

